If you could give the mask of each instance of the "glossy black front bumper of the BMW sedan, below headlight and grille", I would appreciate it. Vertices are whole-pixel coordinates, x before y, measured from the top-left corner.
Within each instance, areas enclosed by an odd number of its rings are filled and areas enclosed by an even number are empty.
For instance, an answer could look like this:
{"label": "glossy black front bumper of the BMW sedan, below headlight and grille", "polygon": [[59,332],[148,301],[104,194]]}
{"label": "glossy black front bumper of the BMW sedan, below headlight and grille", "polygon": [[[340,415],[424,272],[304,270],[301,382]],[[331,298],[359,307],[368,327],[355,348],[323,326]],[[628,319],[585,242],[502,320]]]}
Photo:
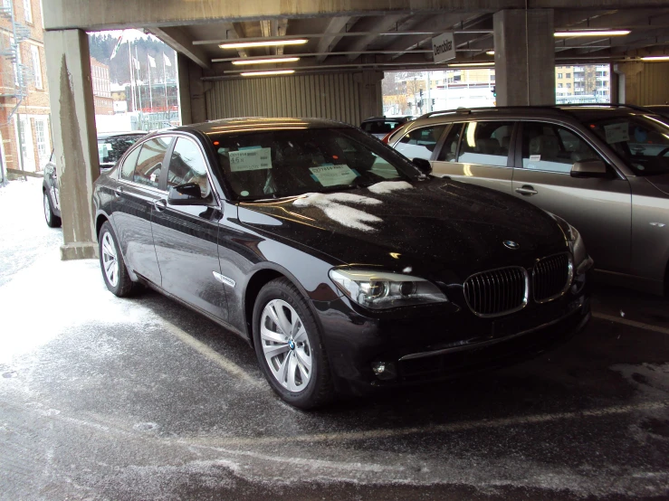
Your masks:
{"label": "glossy black front bumper of the BMW sedan, below headlight and grille", "polygon": [[[589,281],[589,280],[588,280]],[[364,394],[501,367],[540,354],[578,333],[590,318],[588,287],[547,304],[492,319],[464,307],[414,308],[369,318],[347,298],[314,302],[339,392]],[[373,365],[383,364],[385,373]]]}

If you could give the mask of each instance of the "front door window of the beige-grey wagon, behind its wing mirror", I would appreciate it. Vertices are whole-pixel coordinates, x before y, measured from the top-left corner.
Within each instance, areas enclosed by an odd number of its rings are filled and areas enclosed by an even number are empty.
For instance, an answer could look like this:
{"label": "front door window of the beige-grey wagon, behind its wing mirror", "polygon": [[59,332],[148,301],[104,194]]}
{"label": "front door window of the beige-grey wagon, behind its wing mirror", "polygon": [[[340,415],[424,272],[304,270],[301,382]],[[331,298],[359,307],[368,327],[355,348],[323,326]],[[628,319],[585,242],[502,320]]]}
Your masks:
{"label": "front door window of the beige-grey wagon, behind its wing mirror", "polygon": [[572,165],[585,160],[601,160],[601,157],[568,128],[540,122],[522,124],[524,168],[569,173]]}

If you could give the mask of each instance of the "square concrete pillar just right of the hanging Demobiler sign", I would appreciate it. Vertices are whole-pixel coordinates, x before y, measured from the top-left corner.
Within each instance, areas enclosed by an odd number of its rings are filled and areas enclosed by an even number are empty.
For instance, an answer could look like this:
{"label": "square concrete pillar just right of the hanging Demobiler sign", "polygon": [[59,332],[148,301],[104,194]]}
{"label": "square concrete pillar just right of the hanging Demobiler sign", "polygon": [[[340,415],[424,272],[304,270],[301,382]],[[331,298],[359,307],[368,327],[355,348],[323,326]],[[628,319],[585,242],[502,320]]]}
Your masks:
{"label": "square concrete pillar just right of the hanging Demobiler sign", "polygon": [[492,22],[497,105],[555,104],[553,10],[503,10]]}

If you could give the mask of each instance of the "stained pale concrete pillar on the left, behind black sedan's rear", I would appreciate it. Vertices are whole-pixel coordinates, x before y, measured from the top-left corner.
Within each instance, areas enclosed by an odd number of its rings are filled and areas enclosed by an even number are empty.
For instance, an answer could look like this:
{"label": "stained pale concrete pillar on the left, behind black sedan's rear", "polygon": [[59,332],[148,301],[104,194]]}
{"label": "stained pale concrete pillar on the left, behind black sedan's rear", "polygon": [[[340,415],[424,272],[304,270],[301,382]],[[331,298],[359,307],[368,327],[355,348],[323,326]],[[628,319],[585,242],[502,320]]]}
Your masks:
{"label": "stained pale concrete pillar on the left, behind black sedan's rear", "polygon": [[44,33],[53,147],[61,195],[61,259],[95,258],[93,182],[100,175],[86,32]]}

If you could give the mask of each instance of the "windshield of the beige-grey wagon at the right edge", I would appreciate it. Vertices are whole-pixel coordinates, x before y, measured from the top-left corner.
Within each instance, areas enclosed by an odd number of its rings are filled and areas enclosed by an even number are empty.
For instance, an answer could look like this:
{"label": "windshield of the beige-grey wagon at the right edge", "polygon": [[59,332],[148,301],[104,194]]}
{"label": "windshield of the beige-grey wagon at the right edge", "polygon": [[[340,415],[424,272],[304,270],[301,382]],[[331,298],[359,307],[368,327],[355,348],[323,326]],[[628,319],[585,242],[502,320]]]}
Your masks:
{"label": "windshield of the beige-grey wagon at the right edge", "polygon": [[653,117],[630,115],[586,122],[636,175],[669,174],[669,126]]}

